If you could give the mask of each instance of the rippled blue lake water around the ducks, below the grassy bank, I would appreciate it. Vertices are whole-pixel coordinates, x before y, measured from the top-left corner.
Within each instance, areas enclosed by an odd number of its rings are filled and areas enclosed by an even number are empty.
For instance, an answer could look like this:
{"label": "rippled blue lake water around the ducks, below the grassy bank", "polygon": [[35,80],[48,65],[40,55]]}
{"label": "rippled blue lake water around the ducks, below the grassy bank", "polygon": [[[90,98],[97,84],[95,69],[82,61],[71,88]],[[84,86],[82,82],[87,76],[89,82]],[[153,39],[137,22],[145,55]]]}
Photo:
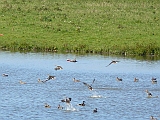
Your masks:
{"label": "rippled blue lake water around the ducks, below the grassy bank", "polygon": [[[68,58],[78,62],[67,62]],[[120,62],[106,67],[112,60]],[[55,65],[63,69],[56,71]],[[8,74],[0,76],[0,120],[149,120],[151,115],[160,119],[158,60],[1,51],[0,73]],[[56,79],[38,83],[48,75]],[[152,77],[157,84],[152,84]],[[73,78],[81,82],[73,82]],[[82,82],[92,84],[94,79],[90,91]],[[147,97],[146,89],[153,98]],[[61,102],[66,97],[72,98],[70,106]],[[82,101],[85,106],[78,106]],[[45,108],[45,103],[51,108]],[[58,104],[64,109],[57,109]],[[95,108],[97,113],[93,113]]]}

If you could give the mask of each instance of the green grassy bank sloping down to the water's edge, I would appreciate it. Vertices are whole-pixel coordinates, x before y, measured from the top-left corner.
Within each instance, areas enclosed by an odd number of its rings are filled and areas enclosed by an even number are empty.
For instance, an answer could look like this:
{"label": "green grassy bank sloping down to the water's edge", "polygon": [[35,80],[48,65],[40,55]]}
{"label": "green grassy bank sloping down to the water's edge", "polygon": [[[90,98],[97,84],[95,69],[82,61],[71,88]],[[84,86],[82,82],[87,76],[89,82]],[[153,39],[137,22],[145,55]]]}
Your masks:
{"label": "green grassy bank sloping down to the water's edge", "polygon": [[159,0],[1,0],[0,48],[160,55]]}

